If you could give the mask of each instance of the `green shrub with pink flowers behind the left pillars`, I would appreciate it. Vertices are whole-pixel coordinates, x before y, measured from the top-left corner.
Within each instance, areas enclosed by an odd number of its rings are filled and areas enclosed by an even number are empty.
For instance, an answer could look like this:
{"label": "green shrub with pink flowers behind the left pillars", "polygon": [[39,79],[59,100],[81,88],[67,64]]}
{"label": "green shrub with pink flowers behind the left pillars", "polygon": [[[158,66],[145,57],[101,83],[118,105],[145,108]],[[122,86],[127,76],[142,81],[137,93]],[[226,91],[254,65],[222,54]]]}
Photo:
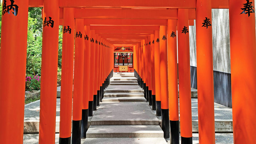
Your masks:
{"label": "green shrub with pink flowers behind the left pillars", "polygon": [[39,90],[41,78],[38,75],[26,77],[26,91]]}

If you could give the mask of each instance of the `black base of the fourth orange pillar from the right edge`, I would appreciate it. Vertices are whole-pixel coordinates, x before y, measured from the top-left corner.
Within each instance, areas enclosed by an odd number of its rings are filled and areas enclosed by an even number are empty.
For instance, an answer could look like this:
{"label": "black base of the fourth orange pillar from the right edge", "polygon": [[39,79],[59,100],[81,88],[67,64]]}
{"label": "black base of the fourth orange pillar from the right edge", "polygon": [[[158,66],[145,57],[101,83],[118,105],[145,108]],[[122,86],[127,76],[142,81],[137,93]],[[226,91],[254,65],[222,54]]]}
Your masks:
{"label": "black base of the fourth orange pillar from the right edge", "polygon": [[180,129],[179,129],[179,120],[172,121],[170,120],[170,142],[171,144],[180,144]]}

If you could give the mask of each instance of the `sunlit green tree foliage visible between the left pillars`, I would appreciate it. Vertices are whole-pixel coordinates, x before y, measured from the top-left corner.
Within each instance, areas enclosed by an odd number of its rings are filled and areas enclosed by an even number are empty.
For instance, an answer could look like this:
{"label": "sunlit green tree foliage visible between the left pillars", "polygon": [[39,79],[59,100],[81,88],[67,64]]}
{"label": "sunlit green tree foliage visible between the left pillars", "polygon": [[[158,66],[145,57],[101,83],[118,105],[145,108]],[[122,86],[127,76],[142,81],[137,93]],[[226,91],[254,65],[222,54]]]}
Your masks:
{"label": "sunlit green tree foliage visible between the left pillars", "polygon": [[[2,6],[0,5],[2,12]],[[0,33],[2,14],[0,14]],[[42,8],[29,8],[28,13],[28,39],[27,39],[27,76],[41,76],[41,58],[42,58]],[[0,36],[1,42],[1,36]],[[59,27],[59,45],[58,45],[58,68],[61,68],[62,54],[62,26]]]}

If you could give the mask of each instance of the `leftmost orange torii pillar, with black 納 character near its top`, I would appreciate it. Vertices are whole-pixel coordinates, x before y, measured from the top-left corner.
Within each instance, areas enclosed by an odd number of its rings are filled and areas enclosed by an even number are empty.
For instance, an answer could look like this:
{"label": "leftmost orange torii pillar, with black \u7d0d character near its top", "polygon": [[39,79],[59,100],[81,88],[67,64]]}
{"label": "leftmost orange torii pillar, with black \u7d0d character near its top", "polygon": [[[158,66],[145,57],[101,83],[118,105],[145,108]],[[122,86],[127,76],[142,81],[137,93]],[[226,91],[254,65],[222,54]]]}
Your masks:
{"label": "leftmost orange torii pillar, with black \u7d0d character near its top", "polygon": [[[18,13],[2,15],[0,51],[1,143],[23,143],[25,77],[28,33],[28,0],[15,0]],[[11,2],[7,1],[7,5]],[[4,12],[4,9],[3,9]],[[15,15],[16,16],[15,16]],[[17,87],[13,90],[13,84]],[[13,138],[15,135],[15,138]]]}

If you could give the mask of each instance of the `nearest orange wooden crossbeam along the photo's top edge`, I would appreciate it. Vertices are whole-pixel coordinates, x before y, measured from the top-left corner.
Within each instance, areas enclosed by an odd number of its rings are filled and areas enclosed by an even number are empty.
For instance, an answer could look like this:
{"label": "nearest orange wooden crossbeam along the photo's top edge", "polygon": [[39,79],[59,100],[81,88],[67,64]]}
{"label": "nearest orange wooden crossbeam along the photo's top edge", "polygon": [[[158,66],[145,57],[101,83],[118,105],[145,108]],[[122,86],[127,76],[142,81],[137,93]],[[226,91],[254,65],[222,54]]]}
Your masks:
{"label": "nearest orange wooden crossbeam along the photo's top edge", "polygon": [[[212,0],[212,9],[228,9],[228,0]],[[59,0],[60,7],[97,8],[196,8],[196,0]],[[43,0],[29,0],[29,7],[43,7]]]}

